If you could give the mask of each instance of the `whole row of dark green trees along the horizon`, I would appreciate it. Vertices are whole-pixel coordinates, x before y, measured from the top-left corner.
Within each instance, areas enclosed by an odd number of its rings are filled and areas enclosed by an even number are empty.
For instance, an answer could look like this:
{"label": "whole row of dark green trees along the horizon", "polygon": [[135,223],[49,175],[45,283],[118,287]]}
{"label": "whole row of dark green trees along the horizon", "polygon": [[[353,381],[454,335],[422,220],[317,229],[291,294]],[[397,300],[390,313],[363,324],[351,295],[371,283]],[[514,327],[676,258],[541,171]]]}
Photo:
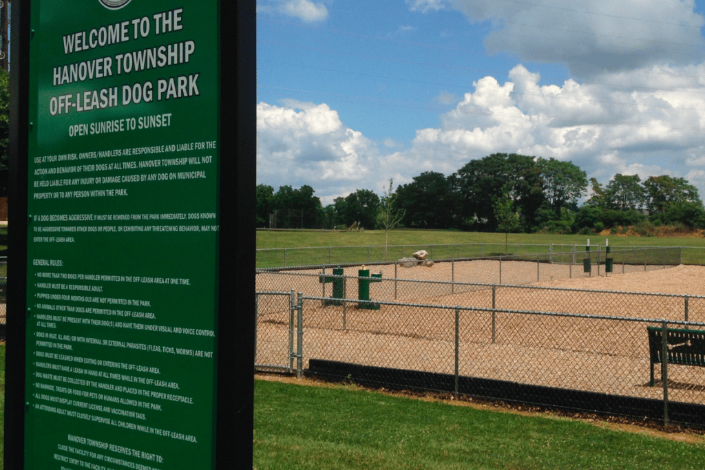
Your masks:
{"label": "whole row of dark green trees along the horizon", "polygon": [[448,176],[425,171],[394,191],[390,185],[382,197],[356,190],[328,206],[308,185],[298,190],[285,185],[276,192],[257,186],[258,227],[274,220],[277,228],[353,223],[390,228],[385,224],[390,214],[398,216],[399,227],[501,233],[589,234],[629,225],[705,228],[703,203],[685,178],[659,175],[642,181],[638,175],[616,174],[603,186],[570,161],[519,154],[491,154]]}

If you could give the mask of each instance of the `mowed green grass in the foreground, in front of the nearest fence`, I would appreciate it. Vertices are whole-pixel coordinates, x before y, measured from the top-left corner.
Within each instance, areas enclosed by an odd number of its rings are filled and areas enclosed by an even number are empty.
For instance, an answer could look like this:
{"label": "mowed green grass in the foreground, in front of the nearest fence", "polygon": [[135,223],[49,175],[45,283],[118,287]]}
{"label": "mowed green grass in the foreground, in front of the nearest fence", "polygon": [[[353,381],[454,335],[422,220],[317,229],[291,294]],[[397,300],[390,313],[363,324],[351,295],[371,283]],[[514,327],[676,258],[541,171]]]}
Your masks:
{"label": "mowed green grass in the foreground, in front of the nearest fence", "polygon": [[255,381],[253,469],[704,469],[681,443],[572,419],[520,416]]}

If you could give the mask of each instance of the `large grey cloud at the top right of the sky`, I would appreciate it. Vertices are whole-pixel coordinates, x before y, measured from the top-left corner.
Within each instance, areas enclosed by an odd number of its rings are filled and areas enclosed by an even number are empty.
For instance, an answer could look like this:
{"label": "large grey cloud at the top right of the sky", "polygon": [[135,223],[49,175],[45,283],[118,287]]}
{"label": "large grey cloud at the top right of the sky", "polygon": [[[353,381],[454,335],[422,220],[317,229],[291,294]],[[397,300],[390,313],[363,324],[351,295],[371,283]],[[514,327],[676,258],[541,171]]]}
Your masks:
{"label": "large grey cloud at the top right of the sky", "polygon": [[[407,1],[407,4],[409,2]],[[436,1],[412,4],[428,11]],[[544,2],[545,3],[545,2]],[[580,3],[450,0],[471,23],[491,21],[490,53],[522,61],[566,63],[575,76],[633,70],[654,63],[687,64],[705,56],[703,16],[694,0],[584,0]]]}

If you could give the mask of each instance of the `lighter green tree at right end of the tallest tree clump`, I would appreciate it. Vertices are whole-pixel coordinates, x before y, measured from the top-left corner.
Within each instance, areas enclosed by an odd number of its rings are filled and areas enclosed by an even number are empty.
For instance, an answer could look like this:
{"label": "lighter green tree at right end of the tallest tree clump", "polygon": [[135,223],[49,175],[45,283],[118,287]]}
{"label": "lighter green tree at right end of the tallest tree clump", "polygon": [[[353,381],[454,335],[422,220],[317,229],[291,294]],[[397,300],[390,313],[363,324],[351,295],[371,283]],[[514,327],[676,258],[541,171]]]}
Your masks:
{"label": "lighter green tree at right end of the tallest tree clump", "polygon": [[560,209],[567,206],[576,206],[577,199],[587,192],[587,173],[570,161],[539,159],[537,164],[541,168],[544,178],[544,194],[551,209],[556,211],[560,218]]}

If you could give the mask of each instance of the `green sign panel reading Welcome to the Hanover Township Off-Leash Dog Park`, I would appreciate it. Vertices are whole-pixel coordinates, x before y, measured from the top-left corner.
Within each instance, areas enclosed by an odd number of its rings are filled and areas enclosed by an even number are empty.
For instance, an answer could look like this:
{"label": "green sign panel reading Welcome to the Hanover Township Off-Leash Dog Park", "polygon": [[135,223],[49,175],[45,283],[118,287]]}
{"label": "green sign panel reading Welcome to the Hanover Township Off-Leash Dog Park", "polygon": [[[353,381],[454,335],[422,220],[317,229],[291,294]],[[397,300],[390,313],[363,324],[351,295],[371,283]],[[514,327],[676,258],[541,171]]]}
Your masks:
{"label": "green sign panel reading Welcome to the Hanover Township Off-Leash Dog Park", "polygon": [[27,469],[213,466],[218,8],[32,2]]}

